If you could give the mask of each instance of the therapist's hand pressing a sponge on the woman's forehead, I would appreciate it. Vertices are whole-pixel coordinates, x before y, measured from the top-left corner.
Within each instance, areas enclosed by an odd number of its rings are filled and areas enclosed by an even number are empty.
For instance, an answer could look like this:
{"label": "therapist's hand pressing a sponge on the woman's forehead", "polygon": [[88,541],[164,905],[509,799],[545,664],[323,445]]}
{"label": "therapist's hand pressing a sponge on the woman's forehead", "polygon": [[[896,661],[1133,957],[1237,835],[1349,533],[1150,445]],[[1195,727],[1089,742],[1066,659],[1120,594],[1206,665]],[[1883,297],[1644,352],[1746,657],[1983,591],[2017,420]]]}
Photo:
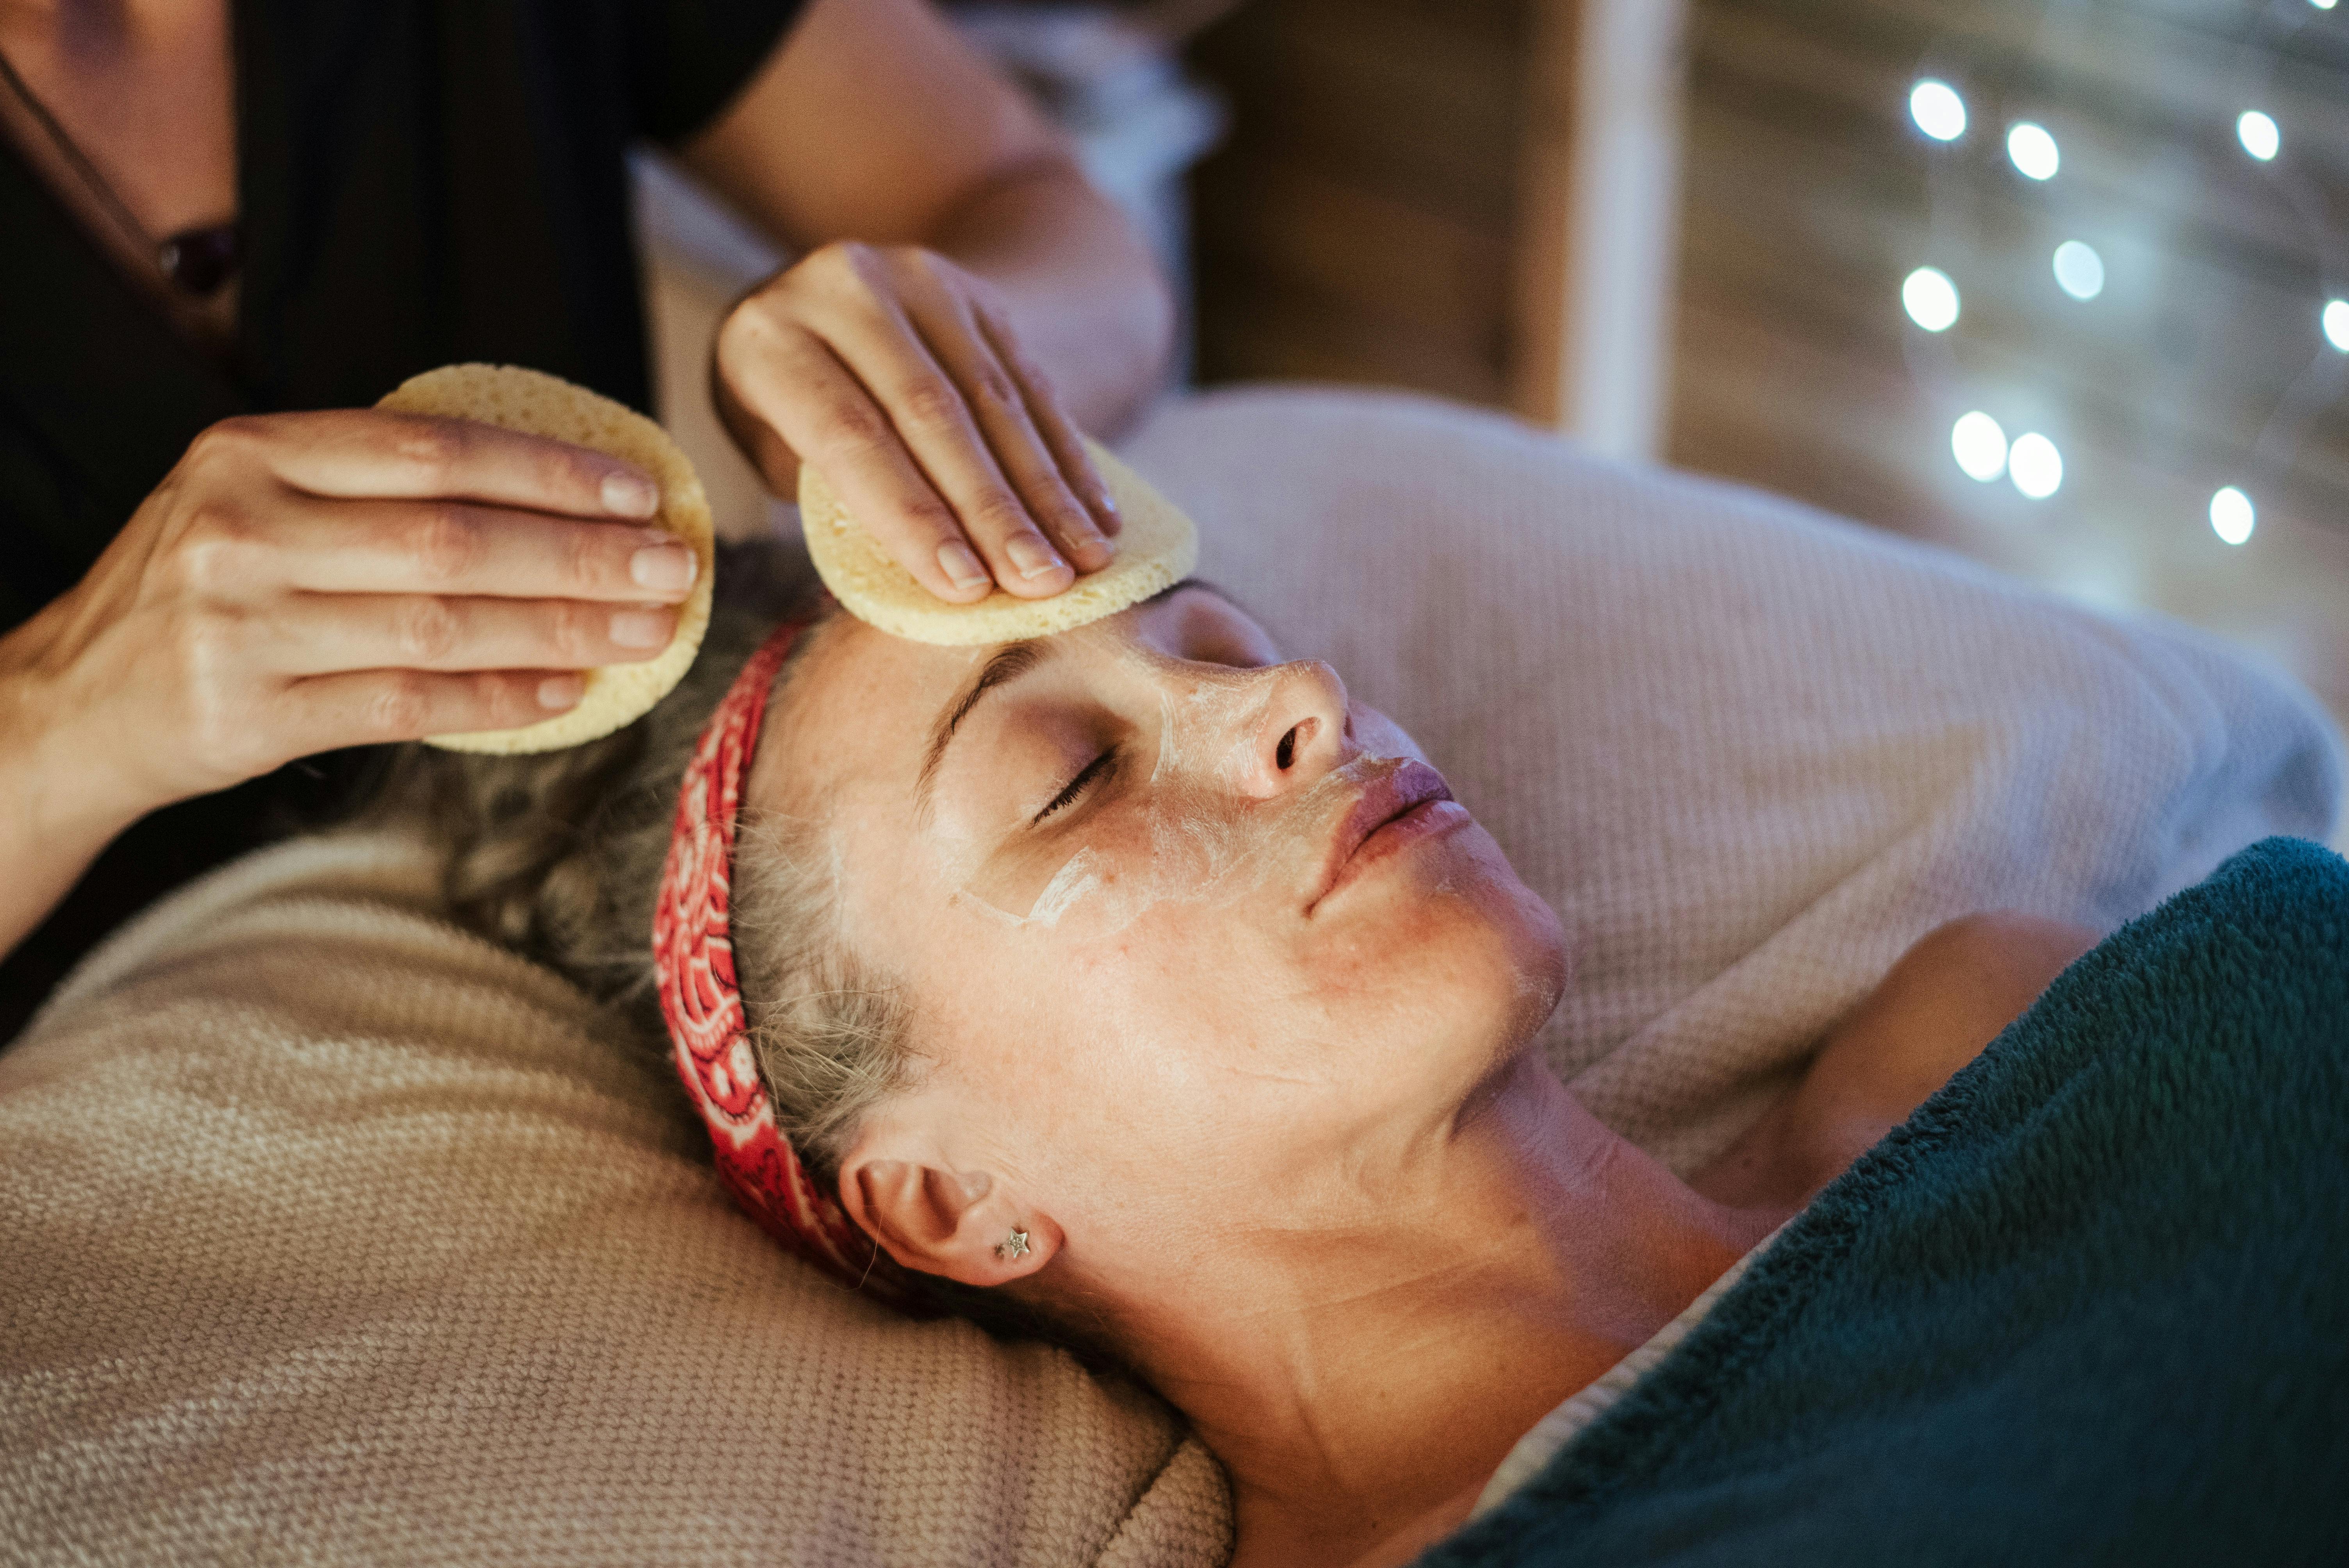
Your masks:
{"label": "therapist's hand pressing a sponge on the woman's forehead", "polygon": [[937,251],[810,251],[726,317],[712,394],[768,488],[815,465],[940,599],[1043,599],[1116,552],[1116,502],[1010,312]]}

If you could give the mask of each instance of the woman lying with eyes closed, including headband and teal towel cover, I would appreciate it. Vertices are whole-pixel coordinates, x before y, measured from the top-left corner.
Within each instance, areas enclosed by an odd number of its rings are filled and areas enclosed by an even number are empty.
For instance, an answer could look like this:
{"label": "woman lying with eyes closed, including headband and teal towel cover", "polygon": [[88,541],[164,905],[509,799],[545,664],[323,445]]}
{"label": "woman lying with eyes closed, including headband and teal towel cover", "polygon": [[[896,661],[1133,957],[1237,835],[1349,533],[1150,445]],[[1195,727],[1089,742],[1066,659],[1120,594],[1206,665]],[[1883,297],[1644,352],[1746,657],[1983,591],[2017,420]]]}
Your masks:
{"label": "woman lying with eyes closed, including headband and teal towel cover", "polygon": [[721,610],[597,746],[413,758],[460,908],[653,1038],[658,993],[728,1185],[843,1286],[1163,1394],[1236,1563],[1412,1561],[1555,1448],[1433,1561],[2349,1523],[2337,859],[2271,840],[2079,965],[1943,927],[1682,1181],[1529,1045],[1557,915],[1214,587],[994,648],[766,631]]}

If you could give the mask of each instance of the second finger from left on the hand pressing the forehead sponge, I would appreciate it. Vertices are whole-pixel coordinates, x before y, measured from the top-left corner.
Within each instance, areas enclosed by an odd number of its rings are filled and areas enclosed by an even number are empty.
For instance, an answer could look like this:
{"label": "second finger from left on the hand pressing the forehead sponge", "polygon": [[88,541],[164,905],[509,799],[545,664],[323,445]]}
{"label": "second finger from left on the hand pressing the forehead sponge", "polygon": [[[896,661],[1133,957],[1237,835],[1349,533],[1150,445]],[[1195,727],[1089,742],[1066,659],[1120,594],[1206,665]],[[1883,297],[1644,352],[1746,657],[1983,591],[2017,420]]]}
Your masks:
{"label": "second finger from left on the hand pressing the forehead sponge", "polygon": [[1003,592],[1043,599],[1076,580],[1005,479],[963,387],[930,354],[902,305],[839,293],[820,303],[810,326],[871,392]]}

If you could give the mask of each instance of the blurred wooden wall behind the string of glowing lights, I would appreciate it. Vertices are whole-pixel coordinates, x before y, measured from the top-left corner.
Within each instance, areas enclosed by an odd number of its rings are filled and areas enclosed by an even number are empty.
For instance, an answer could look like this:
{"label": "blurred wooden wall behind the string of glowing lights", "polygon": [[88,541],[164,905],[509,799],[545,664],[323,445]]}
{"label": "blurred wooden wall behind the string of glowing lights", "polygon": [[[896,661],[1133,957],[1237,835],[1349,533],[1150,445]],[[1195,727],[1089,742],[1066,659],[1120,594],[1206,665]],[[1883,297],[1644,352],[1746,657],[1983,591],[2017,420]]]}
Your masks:
{"label": "blurred wooden wall behind the string of glowing lights", "polygon": [[[1914,131],[1917,75],[1961,87],[1964,141]],[[2276,164],[2243,108],[2286,127]],[[2020,117],[2062,148],[2044,185],[2004,160]],[[2067,237],[2095,300],[2053,282]],[[2349,709],[2349,357],[2316,331],[2344,242],[2349,12],[1691,0],[1668,455],[2187,615]],[[1900,310],[1917,265],[1959,284],[1950,333]],[[2053,500],[1957,472],[1973,406],[2058,441]],[[2206,521],[2220,484],[2260,505],[2243,549]]]}

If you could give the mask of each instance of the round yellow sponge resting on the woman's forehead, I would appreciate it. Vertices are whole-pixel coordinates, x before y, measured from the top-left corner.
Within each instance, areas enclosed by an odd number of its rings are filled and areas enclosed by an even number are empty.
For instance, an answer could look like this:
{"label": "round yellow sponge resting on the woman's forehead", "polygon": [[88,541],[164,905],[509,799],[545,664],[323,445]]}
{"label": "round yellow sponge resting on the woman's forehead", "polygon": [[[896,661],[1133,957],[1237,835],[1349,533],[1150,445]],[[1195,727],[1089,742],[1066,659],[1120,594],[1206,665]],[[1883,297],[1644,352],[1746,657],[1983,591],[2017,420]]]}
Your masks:
{"label": "round yellow sponge resting on the woman's forehead", "polygon": [[808,535],[808,554],[815,556],[824,587],[850,615],[914,643],[1019,643],[1116,615],[1191,575],[1198,566],[1198,528],[1142,474],[1092,441],[1085,441],[1085,451],[1125,521],[1116,540],[1118,556],[1050,599],[1015,599],[1003,589],[977,603],[937,599],[848,516],[841,498],[813,467],[801,465],[799,523]]}

